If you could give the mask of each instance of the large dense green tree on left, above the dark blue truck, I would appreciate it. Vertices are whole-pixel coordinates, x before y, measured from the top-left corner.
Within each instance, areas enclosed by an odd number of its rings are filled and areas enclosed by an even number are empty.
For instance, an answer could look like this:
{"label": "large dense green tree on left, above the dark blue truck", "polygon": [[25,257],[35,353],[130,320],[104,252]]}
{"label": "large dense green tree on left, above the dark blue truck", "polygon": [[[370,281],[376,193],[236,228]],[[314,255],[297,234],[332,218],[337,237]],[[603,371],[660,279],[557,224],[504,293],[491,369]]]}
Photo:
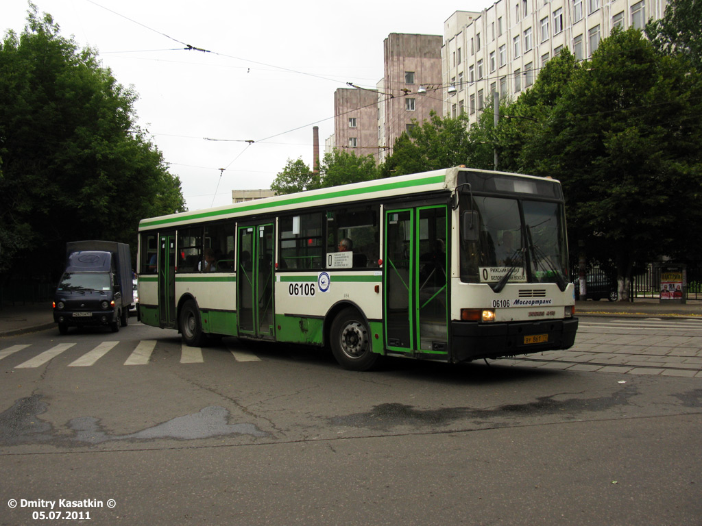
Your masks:
{"label": "large dense green tree on left, above the dark blue truck", "polygon": [[[137,95],[30,4],[0,43],[0,272],[56,278],[66,241],[136,248],[143,217],[185,210],[135,126]],[[133,250],[135,254],[135,250]]]}

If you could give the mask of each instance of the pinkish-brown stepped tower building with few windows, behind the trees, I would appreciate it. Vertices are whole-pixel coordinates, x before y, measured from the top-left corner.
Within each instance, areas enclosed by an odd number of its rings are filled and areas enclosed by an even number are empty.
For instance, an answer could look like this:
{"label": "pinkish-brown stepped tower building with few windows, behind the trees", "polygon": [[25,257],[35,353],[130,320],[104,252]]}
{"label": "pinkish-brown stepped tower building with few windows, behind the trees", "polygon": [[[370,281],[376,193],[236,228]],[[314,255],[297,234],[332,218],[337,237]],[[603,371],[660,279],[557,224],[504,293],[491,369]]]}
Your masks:
{"label": "pinkish-brown stepped tower building with few windows, behind the trees", "polygon": [[383,41],[383,79],[376,89],[339,88],[334,93],[334,135],[325,141],[383,162],[413,121],[442,113],[442,37],[391,33]]}

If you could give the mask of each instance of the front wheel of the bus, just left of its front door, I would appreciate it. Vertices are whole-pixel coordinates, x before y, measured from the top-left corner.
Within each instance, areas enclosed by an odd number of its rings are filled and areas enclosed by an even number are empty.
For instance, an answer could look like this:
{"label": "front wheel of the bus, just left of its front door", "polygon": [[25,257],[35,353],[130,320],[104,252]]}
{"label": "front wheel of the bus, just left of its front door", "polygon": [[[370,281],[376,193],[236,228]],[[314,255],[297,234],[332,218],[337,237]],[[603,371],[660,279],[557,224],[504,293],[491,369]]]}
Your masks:
{"label": "front wheel of the bus, just left of its front door", "polygon": [[334,358],[344,369],[367,371],[378,361],[371,347],[371,331],[356,309],[338,313],[331,323],[329,341]]}

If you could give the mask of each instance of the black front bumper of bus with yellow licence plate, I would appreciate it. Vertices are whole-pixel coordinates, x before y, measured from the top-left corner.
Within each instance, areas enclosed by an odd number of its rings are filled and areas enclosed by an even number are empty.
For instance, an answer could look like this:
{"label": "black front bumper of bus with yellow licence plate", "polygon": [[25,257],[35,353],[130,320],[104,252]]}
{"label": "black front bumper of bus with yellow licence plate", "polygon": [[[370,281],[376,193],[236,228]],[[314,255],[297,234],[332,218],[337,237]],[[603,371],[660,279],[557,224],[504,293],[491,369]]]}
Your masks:
{"label": "black front bumper of bus with yellow licence plate", "polygon": [[453,362],[569,349],[578,318],[510,323],[451,322]]}

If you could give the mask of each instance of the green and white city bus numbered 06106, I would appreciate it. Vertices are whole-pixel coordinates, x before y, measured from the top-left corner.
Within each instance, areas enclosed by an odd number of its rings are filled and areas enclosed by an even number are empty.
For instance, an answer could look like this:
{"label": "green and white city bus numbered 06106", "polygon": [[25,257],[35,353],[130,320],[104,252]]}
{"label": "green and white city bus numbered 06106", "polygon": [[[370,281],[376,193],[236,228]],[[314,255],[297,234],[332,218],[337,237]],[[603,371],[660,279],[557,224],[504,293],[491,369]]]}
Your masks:
{"label": "green and white city bus numbered 06106", "polygon": [[451,363],[574,344],[561,185],[457,167],[142,220],[139,317]]}

